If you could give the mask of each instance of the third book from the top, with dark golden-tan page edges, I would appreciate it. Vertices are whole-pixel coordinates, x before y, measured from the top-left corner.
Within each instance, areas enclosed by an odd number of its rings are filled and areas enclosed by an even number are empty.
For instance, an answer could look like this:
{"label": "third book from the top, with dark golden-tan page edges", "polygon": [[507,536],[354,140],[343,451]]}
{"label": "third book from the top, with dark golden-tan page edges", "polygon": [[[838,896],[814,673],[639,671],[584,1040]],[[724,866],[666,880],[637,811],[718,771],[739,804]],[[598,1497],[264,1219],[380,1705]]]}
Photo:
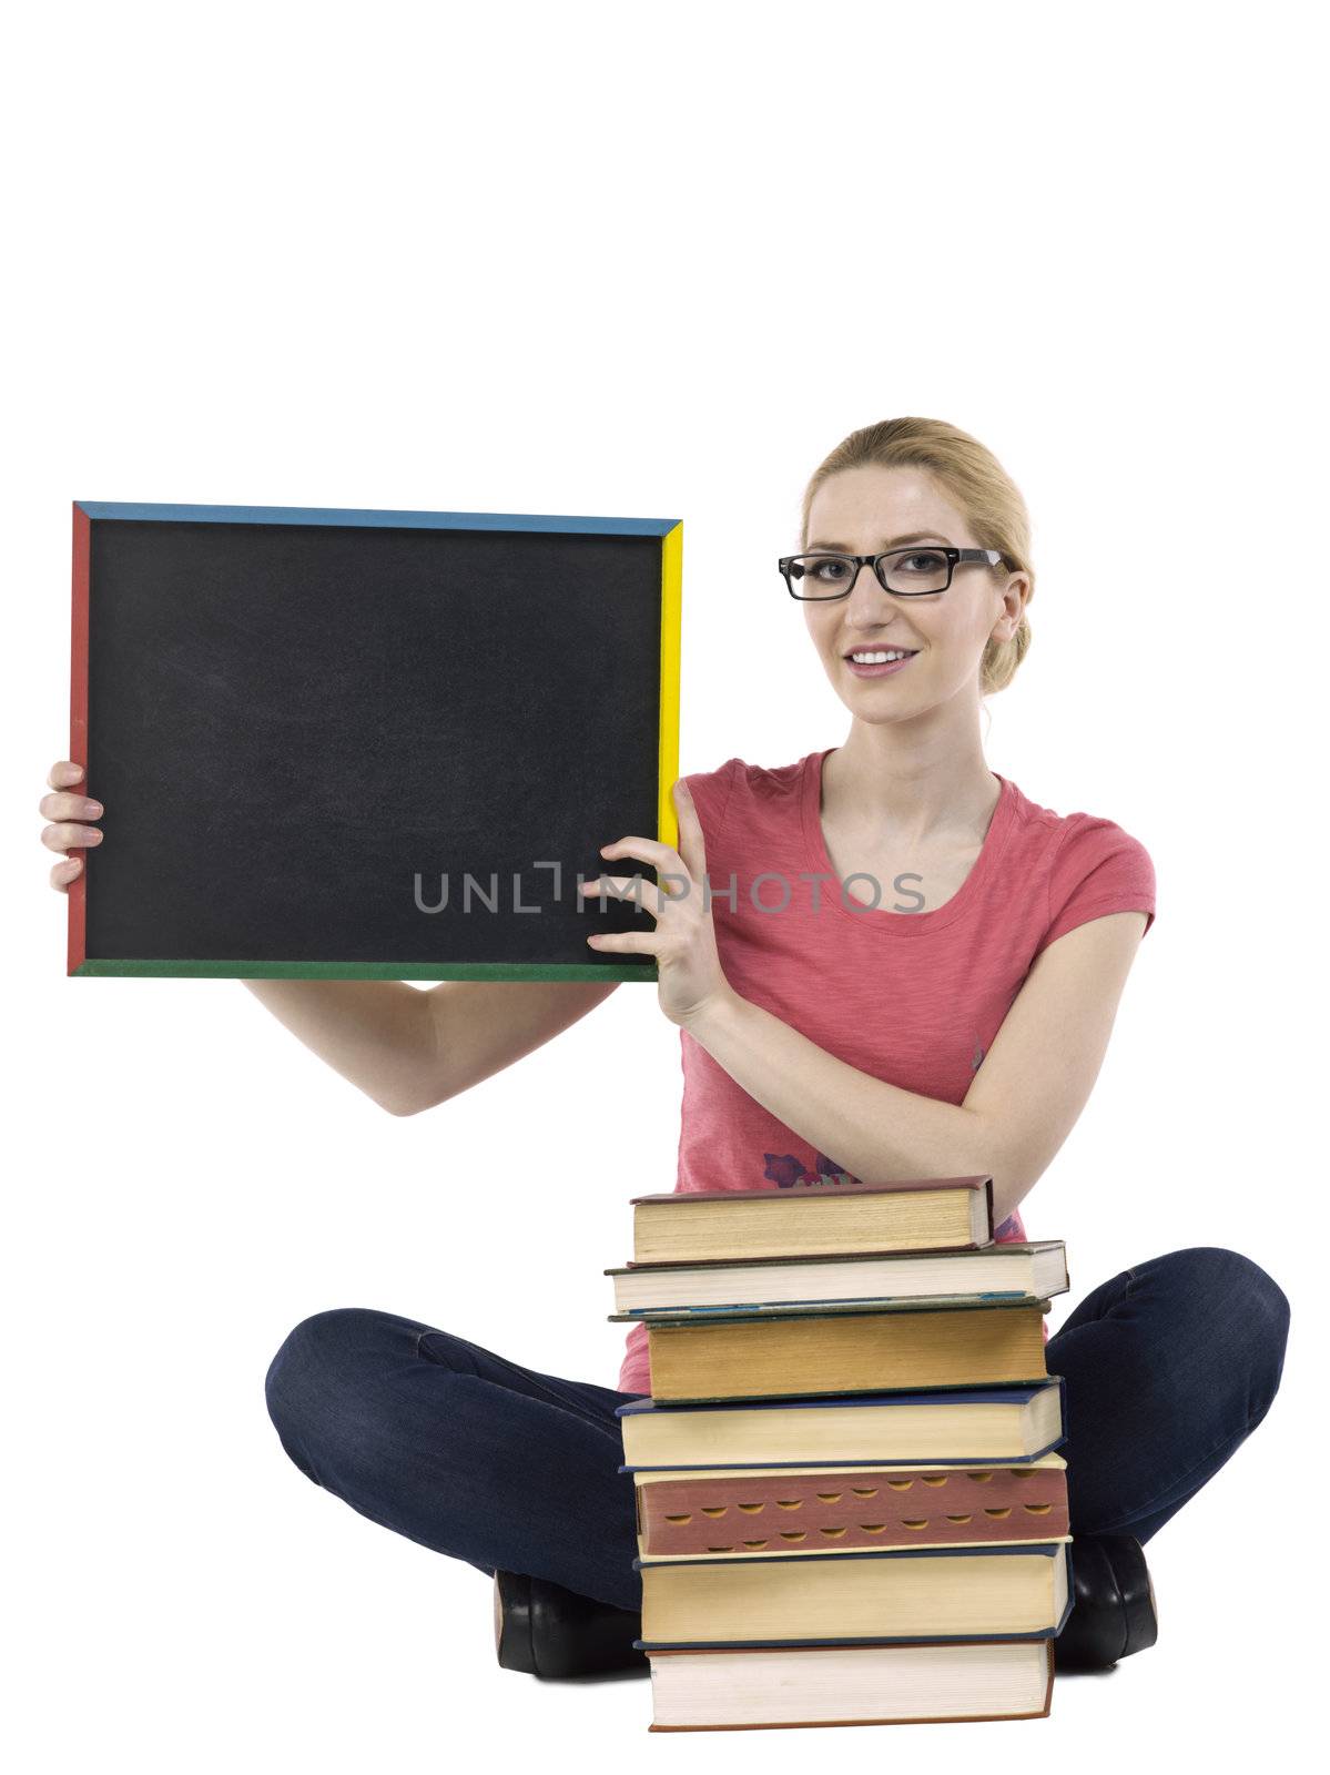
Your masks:
{"label": "third book from the top, with dark golden-tan page edges", "polygon": [[652,1399],[920,1392],[1044,1381],[1048,1301],[646,1321]]}

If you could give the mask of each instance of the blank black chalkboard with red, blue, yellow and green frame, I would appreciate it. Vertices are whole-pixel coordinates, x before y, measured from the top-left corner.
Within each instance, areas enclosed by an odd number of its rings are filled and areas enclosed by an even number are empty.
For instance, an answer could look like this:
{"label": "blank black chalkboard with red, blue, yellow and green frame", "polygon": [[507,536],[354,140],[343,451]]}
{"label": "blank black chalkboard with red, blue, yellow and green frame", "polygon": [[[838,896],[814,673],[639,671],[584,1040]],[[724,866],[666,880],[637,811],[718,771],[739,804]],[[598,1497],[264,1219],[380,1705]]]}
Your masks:
{"label": "blank black chalkboard with red, blue, yellow and green frame", "polygon": [[675,518],[76,501],[71,974],[655,980]]}

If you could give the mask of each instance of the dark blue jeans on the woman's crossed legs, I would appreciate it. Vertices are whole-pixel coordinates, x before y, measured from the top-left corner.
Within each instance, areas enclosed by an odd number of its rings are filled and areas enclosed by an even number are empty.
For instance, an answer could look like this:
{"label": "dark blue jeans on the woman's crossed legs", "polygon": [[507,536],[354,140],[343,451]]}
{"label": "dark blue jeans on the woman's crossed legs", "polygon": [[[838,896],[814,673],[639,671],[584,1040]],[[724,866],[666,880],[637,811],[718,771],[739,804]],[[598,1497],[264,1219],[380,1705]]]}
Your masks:
{"label": "dark blue jeans on the woman's crossed legs", "polygon": [[[1191,1246],[1101,1283],[1048,1340],[1065,1377],[1073,1535],[1149,1537],[1270,1409],[1289,1303],[1238,1251]],[[620,1393],[451,1331],[344,1306],[272,1360],[268,1413],[314,1484],[421,1546],[641,1608]]]}

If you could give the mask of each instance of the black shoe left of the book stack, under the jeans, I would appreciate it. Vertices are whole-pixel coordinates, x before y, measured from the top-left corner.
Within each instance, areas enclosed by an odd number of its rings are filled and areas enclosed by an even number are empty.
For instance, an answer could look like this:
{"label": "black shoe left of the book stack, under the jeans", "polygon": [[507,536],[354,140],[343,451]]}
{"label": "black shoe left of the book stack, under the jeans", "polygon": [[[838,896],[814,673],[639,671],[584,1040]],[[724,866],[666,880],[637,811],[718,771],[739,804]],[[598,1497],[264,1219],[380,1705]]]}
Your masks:
{"label": "black shoe left of the book stack, under the jeans", "polygon": [[504,1670],[527,1676],[602,1676],[634,1670],[646,1676],[641,1613],[614,1608],[595,1598],[565,1590],[552,1578],[529,1578],[520,1571],[494,1574],[494,1649]]}

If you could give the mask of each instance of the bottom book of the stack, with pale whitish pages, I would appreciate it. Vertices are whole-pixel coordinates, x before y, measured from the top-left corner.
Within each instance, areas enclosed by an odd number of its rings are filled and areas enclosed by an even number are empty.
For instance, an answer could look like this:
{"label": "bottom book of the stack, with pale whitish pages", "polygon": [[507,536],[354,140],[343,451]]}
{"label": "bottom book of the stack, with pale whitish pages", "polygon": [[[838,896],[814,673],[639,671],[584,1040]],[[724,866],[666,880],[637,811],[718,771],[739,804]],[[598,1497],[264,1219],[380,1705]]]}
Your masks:
{"label": "bottom book of the stack, with pale whitish pages", "polygon": [[652,1732],[1044,1720],[1053,1640],[653,1651]]}

